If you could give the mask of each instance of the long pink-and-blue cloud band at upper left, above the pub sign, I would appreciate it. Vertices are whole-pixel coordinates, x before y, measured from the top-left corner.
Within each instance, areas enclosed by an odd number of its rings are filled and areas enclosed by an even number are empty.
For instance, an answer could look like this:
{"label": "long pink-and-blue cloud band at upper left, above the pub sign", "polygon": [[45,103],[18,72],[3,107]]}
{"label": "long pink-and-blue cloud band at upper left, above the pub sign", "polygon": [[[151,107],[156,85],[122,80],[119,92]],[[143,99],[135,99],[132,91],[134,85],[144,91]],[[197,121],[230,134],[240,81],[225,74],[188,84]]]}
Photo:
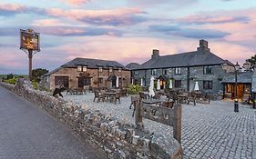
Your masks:
{"label": "long pink-and-blue cloud band at upper left, above the pub sign", "polygon": [[70,18],[91,25],[135,25],[148,20],[146,12],[139,8],[126,7],[106,10],[63,10],[60,8],[27,7],[25,5],[0,5],[1,15],[35,14],[58,18]]}

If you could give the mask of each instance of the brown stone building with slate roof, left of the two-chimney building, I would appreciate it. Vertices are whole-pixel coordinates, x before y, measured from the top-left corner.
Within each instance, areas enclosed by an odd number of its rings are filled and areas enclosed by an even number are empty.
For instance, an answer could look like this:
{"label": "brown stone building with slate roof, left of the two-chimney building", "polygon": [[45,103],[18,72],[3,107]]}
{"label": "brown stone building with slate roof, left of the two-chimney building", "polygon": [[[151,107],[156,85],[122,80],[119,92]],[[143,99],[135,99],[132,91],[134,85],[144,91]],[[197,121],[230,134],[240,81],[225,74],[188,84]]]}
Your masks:
{"label": "brown stone building with slate roof, left of the two-chimney building", "polygon": [[[117,85],[118,82],[118,85]],[[126,87],[130,84],[130,70],[116,61],[75,58],[43,77],[42,85],[53,90],[67,88]]]}

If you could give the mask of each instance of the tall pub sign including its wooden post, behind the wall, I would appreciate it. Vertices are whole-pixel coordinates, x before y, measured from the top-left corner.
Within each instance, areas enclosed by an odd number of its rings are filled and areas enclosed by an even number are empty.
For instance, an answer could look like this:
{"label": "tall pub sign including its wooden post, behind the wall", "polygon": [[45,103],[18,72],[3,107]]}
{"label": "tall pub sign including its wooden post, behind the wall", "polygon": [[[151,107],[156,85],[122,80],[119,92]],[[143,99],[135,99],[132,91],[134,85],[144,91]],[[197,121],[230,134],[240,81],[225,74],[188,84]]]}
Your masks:
{"label": "tall pub sign including its wooden post, behind the wall", "polygon": [[25,51],[29,59],[29,80],[32,80],[32,58],[40,52],[39,33],[32,29],[20,29],[20,49]]}

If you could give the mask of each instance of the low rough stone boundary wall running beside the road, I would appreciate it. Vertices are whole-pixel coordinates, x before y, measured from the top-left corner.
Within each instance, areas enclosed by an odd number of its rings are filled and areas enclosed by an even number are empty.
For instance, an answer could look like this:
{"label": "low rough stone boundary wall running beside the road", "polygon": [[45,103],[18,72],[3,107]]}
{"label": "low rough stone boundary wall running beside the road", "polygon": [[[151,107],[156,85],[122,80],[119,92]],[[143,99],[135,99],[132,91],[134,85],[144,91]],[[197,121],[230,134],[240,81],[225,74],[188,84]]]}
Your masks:
{"label": "low rough stone boundary wall running beside the road", "polygon": [[104,150],[108,158],[182,158],[181,146],[175,139],[167,144],[160,137],[138,130],[134,125],[123,124],[113,116],[81,109],[79,105],[34,90],[30,82],[23,79],[15,86],[1,82],[0,85],[67,124],[84,142]]}

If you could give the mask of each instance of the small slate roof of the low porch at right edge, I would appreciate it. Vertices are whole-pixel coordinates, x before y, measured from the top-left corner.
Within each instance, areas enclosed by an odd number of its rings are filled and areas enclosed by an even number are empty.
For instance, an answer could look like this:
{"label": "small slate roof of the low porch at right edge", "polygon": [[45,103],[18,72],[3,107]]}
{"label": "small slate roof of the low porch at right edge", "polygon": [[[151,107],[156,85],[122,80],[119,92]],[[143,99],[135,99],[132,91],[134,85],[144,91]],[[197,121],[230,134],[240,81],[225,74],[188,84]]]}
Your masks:
{"label": "small slate roof of the low porch at right edge", "polygon": [[[239,73],[238,76],[237,76],[237,83],[251,84],[252,75],[253,75],[253,72],[251,72],[251,71],[244,72],[244,73]],[[235,75],[225,76],[223,78],[223,80],[221,81],[221,83],[224,83],[224,84],[227,84],[227,83],[233,84],[233,83],[235,83]]]}

